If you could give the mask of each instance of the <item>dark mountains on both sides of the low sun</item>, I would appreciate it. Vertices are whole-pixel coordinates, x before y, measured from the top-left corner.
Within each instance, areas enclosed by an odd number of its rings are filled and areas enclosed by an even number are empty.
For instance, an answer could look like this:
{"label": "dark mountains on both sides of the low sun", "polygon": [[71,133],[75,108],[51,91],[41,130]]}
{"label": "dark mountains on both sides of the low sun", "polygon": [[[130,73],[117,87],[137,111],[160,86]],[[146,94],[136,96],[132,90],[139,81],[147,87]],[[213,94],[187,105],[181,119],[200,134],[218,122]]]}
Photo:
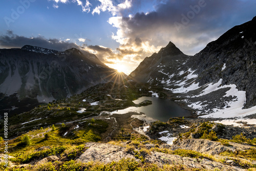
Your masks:
{"label": "dark mountains on both sides of the low sun", "polygon": [[[146,57],[127,80],[162,88],[168,98],[204,117],[256,113],[255,29],[256,17],[228,30],[194,56],[185,55],[169,42]],[[0,110],[9,112],[17,111],[17,106],[26,111],[40,102],[125,78],[94,54],[29,45],[0,50],[0,75]]]}

